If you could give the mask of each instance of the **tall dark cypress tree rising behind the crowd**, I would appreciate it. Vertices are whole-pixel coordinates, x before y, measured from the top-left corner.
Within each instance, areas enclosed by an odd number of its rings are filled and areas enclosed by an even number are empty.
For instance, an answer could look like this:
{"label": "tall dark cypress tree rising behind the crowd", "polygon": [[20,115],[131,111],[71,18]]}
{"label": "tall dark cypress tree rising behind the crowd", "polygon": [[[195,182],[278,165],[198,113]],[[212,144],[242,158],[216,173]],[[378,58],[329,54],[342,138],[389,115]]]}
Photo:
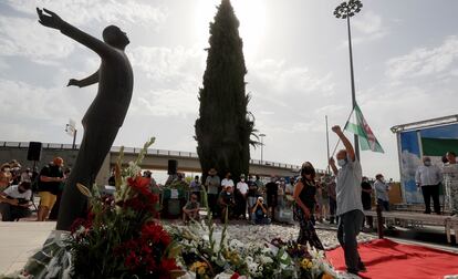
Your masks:
{"label": "tall dark cypress tree rising behind the crowd", "polygon": [[250,141],[254,120],[247,111],[242,40],[230,0],[221,0],[210,23],[210,48],[204,86],[199,90],[199,118],[196,121],[197,153],[204,176],[215,167],[220,176],[231,172],[238,179],[248,174]]}

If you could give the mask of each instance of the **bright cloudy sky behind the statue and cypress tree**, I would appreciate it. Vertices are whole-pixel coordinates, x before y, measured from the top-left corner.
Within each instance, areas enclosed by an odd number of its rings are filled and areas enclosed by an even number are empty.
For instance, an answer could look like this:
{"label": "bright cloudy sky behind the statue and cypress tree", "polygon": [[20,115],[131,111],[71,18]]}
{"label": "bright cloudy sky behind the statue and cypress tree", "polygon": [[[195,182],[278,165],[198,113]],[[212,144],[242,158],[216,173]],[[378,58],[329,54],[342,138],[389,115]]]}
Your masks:
{"label": "bright cloudy sky behind the statue and cypress tree", "polygon": [[[326,166],[325,115],[344,125],[351,112],[346,22],[341,1],[232,0],[248,74],[249,111],[266,134],[263,159]],[[96,85],[66,87],[95,72],[98,56],[38,23],[48,8],[101,38],[116,24],[135,85],[115,145],[196,152],[194,123],[206,68],[209,22],[218,0],[2,0],[0,2],[0,141],[72,143]],[[363,172],[399,178],[391,127],[457,114],[458,1],[363,1],[351,20],[356,100],[384,154],[362,152]],[[347,134],[351,136],[351,134]],[[337,138],[330,134],[331,149]],[[260,148],[251,151],[260,158]]]}

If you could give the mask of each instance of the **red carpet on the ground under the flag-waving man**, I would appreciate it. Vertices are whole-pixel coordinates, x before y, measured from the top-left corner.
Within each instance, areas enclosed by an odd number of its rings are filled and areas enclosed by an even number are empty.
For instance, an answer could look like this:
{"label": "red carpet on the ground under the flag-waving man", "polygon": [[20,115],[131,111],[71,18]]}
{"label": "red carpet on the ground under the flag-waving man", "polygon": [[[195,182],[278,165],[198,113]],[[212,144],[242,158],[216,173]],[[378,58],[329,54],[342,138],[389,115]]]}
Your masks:
{"label": "red carpet on the ground under the flag-waving man", "polygon": [[[403,245],[388,239],[361,244],[358,251],[367,272],[362,278],[375,279],[443,279],[458,275],[458,254],[415,245]],[[326,252],[336,270],[346,270],[342,248]]]}

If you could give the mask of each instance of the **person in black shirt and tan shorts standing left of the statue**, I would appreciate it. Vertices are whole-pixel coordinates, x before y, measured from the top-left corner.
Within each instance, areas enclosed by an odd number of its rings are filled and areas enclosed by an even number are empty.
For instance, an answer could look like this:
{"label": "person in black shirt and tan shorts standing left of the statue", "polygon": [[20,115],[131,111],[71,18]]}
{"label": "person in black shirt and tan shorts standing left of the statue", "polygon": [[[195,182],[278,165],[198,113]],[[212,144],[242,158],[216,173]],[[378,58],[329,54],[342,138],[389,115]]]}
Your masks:
{"label": "person in black shirt and tan shorts standing left of the statue", "polygon": [[64,180],[62,172],[63,159],[55,157],[51,164],[43,167],[40,172],[39,177],[39,194],[40,194],[40,206],[38,211],[39,221],[44,221],[48,214],[55,204],[59,187]]}

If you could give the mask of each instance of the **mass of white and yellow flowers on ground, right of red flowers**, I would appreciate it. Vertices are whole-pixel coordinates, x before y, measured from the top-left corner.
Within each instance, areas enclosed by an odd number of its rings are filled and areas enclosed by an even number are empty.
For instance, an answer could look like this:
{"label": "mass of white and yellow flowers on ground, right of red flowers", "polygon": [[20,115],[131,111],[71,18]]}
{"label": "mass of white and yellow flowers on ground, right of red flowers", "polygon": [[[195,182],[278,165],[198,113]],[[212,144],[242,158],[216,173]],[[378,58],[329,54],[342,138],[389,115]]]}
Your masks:
{"label": "mass of white and yellow flowers on ground, right of red flowers", "polygon": [[[205,205],[206,196],[204,189]],[[281,239],[230,239],[227,223],[218,229],[208,208],[199,223],[166,228],[181,247],[177,261],[188,272],[184,278],[336,278],[324,254],[311,247]]]}

